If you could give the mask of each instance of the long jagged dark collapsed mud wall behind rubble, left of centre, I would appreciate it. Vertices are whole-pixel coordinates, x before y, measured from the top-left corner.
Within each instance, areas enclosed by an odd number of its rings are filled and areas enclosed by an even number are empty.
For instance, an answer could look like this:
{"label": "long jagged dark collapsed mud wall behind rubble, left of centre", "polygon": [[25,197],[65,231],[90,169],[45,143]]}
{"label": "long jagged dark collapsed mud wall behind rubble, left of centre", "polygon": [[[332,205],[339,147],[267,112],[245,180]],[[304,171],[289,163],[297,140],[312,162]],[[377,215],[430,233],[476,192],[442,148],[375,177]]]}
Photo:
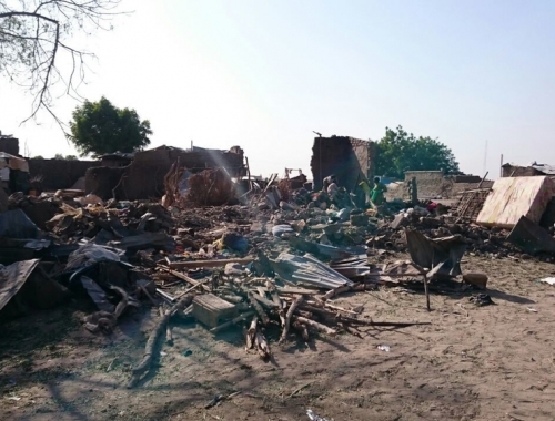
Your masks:
{"label": "long jagged dark collapsed mud wall behind rubble, left of centre", "polygon": [[[243,151],[233,147],[229,152],[213,150],[183,151],[174,147],[159,147],[138,152],[133,162],[120,168],[94,167],[85,174],[87,192],[102,198],[111,198],[112,191],[118,198],[134,201],[158,198],[164,194],[164,176],[175,161],[191,173],[205,168],[224,167],[231,176],[243,176]],[[122,179],[123,176],[123,179]],[[121,183],[120,183],[121,181]]]}

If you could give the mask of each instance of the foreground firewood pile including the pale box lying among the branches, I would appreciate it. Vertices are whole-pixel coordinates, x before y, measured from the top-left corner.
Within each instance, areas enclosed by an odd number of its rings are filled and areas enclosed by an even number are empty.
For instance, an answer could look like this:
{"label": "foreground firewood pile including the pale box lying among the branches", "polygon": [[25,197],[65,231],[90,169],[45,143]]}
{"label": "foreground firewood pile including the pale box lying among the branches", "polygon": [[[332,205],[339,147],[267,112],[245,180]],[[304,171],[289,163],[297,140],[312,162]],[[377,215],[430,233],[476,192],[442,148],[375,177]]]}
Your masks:
{"label": "foreground firewood pile including the pale box lying among the branches", "polygon": [[[160,273],[182,280],[186,289],[175,297],[161,289],[157,290],[168,306],[165,310],[161,310],[161,318],[147,342],[143,359],[132,371],[130,388],[137,386],[141,376],[149,370],[157,341],[164,331],[168,342],[172,341],[170,322],[173,316],[194,319],[214,335],[242,327],[245,350],[259,355],[264,360],[273,358],[272,348],[281,347],[289,341],[307,342],[317,339],[319,336],[335,337],[341,333],[363,338],[365,330],[373,327],[425,325],[374,321],[361,317],[362,308],[343,308],[333,304],[332,299],[341,294],[375,289],[377,283],[372,278],[360,283],[351,283],[344,278],[346,283],[337,281],[334,288],[330,288],[332,283],[330,277],[320,286],[316,281],[295,285],[279,276],[275,278],[249,276],[242,264],[252,259],[234,260],[238,263],[228,263],[225,270],[215,269],[212,278],[204,281],[189,276],[196,270],[192,267],[189,275],[175,270],[183,268],[180,263],[170,266],[158,265]],[[198,263],[194,266],[202,265]],[[205,265],[209,266],[209,260]],[[333,269],[329,270],[331,275]],[[342,279],[339,273],[336,279]]]}

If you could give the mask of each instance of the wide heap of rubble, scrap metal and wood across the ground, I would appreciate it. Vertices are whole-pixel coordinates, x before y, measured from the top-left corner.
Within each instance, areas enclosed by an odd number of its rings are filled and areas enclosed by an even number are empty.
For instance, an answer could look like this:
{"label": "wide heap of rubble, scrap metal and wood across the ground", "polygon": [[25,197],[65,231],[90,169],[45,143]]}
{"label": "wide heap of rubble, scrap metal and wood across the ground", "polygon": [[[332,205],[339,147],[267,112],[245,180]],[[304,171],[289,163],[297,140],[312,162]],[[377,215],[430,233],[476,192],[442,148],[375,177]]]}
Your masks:
{"label": "wide heap of rubble, scrap metal and wood across the ground", "polygon": [[161,203],[77,191],[10,196],[0,214],[0,318],[81,296],[97,307],[83,327],[100,335],[143,306],[160,308],[134,387],[178,318],[213,333],[243,326],[246,349],[269,359],[272,343],[294,337],[414,325],[364,318],[334,302],[341,294],[411,283],[423,287],[430,309],[428,281],[462,276],[486,287],[485,274],[463,275],[465,251],[518,258],[555,242],[545,230],[532,247],[536,225],[527,219],[509,234],[430,202],[362,207],[345,189],[331,197],[276,177],[250,182],[238,197],[223,168],[185,174],[171,168]]}

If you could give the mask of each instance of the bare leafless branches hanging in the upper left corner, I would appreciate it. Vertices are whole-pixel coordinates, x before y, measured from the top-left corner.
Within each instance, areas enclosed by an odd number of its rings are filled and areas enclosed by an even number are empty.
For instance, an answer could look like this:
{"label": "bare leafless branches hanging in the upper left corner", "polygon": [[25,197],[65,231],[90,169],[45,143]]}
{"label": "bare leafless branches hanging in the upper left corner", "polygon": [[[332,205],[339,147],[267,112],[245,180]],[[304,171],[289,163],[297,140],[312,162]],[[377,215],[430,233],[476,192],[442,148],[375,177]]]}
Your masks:
{"label": "bare leafless branches hanging in the upper left corner", "polygon": [[[74,45],[77,34],[111,30],[121,0],[0,0],[0,75],[34,96],[31,115],[52,111],[53,86],[79,97],[87,59],[94,54]],[[61,65],[60,65],[61,63]],[[26,120],[26,121],[27,121]]]}

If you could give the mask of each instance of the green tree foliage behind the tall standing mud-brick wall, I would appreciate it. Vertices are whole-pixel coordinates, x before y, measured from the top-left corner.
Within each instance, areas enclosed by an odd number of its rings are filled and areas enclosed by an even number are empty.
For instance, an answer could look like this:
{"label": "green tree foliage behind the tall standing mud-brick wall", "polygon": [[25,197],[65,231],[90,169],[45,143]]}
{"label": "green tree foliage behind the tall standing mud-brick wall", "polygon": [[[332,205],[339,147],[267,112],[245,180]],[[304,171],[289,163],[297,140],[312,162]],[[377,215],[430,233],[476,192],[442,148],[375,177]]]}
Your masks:
{"label": "green tree foliage behind the tall standing mud-brick wall", "polygon": [[456,174],[458,163],[453,152],[431,137],[415,137],[398,126],[385,129],[385,136],[377,142],[376,174],[404,178],[405,171],[443,171]]}

